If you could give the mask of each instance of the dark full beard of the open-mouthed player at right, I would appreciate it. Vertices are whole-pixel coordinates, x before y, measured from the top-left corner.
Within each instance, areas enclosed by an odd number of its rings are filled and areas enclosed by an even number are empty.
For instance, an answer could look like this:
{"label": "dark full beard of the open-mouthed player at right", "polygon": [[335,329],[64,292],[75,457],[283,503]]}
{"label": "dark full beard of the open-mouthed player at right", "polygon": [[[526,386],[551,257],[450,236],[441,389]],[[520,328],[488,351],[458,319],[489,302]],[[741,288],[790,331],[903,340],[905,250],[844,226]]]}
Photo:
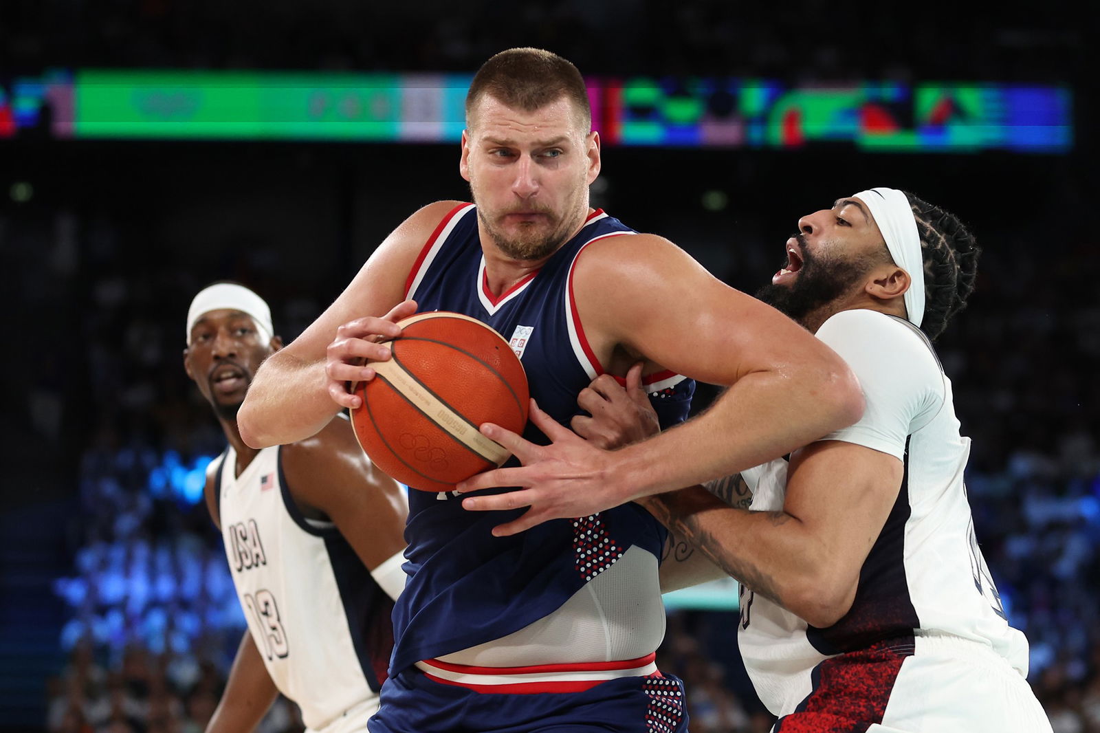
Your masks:
{"label": "dark full beard of the open-mouthed player at right", "polygon": [[[802,234],[795,240],[802,255],[798,278],[791,285],[768,283],[756,292],[756,297],[807,326],[810,315],[822,311],[850,292],[873,263],[866,258],[846,260],[835,255],[814,255],[806,250]],[[787,262],[782,266],[785,267]]]}

